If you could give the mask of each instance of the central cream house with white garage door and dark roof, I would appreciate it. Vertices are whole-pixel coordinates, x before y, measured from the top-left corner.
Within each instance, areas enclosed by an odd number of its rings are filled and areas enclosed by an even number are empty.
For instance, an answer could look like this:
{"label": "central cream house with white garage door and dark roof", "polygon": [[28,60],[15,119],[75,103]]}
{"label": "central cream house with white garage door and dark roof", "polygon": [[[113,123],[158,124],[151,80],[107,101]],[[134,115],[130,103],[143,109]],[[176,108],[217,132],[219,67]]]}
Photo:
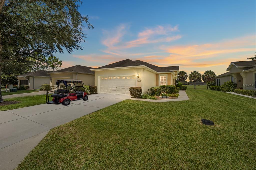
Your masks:
{"label": "central cream house with white garage door and dark roof", "polygon": [[141,87],[143,93],[151,87],[176,85],[179,66],[158,67],[141,60],[122,60],[95,71],[98,93],[130,94],[130,87]]}

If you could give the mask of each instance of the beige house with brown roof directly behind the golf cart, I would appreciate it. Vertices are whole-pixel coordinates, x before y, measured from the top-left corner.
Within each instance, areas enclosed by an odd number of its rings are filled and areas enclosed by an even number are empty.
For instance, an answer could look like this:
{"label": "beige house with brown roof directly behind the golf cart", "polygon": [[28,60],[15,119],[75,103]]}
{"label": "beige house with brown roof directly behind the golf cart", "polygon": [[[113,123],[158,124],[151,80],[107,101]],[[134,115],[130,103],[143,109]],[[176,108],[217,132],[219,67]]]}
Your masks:
{"label": "beige house with brown roof directly behind the golf cart", "polygon": [[48,72],[51,76],[51,87],[56,86],[56,81],[59,79],[78,79],[84,82],[84,85],[94,85],[94,69],[93,67],[76,65],[61,70]]}

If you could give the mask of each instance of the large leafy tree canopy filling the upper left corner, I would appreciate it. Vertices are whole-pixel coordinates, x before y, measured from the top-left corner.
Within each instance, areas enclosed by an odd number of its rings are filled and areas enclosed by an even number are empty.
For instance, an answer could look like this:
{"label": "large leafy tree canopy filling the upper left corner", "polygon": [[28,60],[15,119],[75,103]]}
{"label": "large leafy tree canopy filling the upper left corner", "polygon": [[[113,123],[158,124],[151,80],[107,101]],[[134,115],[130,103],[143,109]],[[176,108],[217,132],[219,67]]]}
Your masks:
{"label": "large leafy tree canopy filling the upper left corner", "polygon": [[[78,8],[80,0],[0,0],[0,77],[3,63],[26,63],[38,54],[82,49],[83,24],[93,28]],[[1,82],[0,82],[1,85]],[[0,91],[0,102],[3,102]]]}

